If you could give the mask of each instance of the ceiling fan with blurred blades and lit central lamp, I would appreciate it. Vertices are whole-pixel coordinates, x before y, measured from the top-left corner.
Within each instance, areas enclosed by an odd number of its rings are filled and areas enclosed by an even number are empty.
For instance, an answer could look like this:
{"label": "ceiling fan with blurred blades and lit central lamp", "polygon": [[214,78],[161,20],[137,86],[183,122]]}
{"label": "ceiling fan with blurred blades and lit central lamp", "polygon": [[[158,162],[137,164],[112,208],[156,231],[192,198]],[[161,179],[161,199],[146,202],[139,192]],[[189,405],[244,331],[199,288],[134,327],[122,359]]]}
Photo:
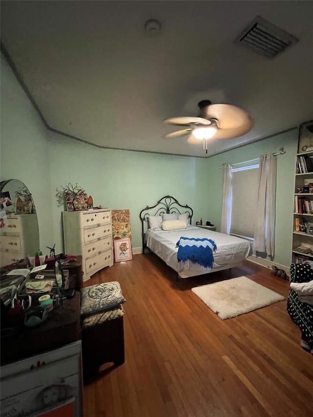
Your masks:
{"label": "ceiling fan with blurred blades and lit central lamp", "polygon": [[199,114],[197,117],[171,117],[164,123],[178,126],[188,126],[185,129],[166,133],[166,138],[185,136],[189,134],[189,143],[203,142],[206,146],[210,138],[230,139],[242,136],[249,132],[254,121],[249,113],[230,104],[212,104],[210,100],[201,100],[198,103]]}

